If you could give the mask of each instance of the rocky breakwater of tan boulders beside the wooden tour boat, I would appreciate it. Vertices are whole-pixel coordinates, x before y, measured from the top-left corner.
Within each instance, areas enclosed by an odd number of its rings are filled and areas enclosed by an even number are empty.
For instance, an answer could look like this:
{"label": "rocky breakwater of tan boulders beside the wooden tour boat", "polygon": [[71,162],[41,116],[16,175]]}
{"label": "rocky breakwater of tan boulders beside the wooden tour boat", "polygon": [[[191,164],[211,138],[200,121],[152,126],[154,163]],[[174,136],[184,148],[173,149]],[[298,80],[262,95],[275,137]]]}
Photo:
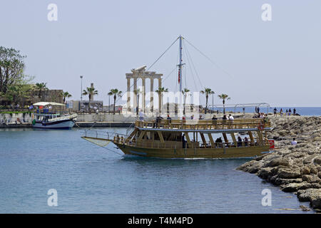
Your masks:
{"label": "rocky breakwater of tan boulders beside the wooden tour boat", "polygon": [[[270,118],[274,128],[275,152],[257,157],[238,167],[294,192],[301,202],[321,209],[321,117]],[[297,145],[291,145],[292,138]]]}

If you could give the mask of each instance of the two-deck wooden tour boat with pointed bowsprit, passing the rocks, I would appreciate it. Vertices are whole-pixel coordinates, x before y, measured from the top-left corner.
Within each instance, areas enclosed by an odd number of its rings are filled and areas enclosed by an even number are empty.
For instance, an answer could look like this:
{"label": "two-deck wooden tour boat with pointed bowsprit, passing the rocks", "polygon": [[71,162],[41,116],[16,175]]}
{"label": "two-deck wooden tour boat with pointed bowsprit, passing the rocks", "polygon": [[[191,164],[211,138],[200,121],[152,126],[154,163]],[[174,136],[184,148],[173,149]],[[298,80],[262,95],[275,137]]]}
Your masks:
{"label": "two-deck wooden tour boat with pointed bowsprit, passing the rocks", "polygon": [[[81,138],[102,147],[113,142],[126,155],[161,158],[255,157],[269,152],[267,119],[136,121],[128,135],[85,130]],[[246,133],[240,141],[236,133]],[[223,141],[213,139],[220,134]]]}

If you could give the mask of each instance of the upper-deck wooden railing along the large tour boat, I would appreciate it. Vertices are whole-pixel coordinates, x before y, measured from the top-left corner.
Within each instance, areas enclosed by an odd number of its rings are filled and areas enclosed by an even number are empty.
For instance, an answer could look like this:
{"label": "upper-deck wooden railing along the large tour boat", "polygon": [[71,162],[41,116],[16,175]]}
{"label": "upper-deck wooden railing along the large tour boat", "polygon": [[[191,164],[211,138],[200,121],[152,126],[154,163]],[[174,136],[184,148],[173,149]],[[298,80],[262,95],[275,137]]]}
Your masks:
{"label": "upper-deck wooden railing along the large tour boat", "polygon": [[182,130],[224,130],[224,129],[250,129],[270,128],[269,120],[240,119],[240,120],[148,120],[136,121],[138,128],[163,128]]}

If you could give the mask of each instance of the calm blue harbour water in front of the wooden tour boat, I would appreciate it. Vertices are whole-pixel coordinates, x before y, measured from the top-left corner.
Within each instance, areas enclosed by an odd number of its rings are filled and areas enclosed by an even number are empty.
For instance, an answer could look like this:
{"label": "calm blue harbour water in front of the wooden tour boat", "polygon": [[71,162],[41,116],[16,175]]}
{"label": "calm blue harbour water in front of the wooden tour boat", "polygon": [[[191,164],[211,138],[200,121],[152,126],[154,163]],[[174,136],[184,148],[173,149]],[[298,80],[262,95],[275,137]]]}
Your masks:
{"label": "calm blue harbour water in front of the wooden tour boat", "polygon": [[[295,195],[235,170],[246,159],[123,157],[80,136],[0,130],[0,213],[310,213]],[[261,204],[266,188],[271,207]],[[58,207],[47,205],[49,189],[58,191]]]}

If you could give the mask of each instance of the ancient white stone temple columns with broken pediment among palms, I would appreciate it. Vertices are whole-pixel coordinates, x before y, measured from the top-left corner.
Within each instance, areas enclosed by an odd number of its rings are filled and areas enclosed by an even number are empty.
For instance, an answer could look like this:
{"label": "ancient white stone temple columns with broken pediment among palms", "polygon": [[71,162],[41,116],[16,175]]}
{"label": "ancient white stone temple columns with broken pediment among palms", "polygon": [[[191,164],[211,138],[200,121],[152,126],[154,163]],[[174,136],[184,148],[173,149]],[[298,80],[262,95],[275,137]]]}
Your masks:
{"label": "ancient white stone temple columns with broken pediment among palms", "polygon": [[[142,111],[146,113],[146,78],[149,78],[151,80],[151,100],[150,100],[150,107],[151,109],[148,111],[153,112],[153,87],[154,87],[154,79],[158,79],[158,88],[162,86],[162,76],[161,73],[156,73],[155,71],[146,71],[146,66],[142,66],[140,68],[132,69],[132,73],[126,73],[127,78],[127,108],[128,110],[136,110],[137,108],[137,81],[139,78],[141,78],[142,81],[142,88],[139,91],[141,93],[142,98]],[[131,78],[133,78],[133,107],[131,107]]]}

